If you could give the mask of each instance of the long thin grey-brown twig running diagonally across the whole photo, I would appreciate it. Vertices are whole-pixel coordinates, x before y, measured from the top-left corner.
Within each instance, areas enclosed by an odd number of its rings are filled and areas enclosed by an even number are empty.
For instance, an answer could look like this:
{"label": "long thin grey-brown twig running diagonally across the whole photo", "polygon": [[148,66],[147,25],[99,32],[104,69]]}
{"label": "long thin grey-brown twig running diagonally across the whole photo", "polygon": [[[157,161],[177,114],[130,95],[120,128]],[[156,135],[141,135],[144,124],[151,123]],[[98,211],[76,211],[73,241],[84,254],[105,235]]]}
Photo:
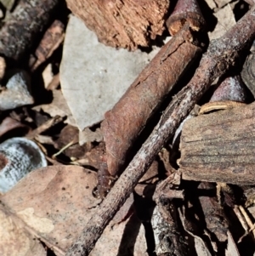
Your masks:
{"label": "long thin grey-brown twig running diagonally across the whole photo", "polygon": [[245,48],[246,43],[252,37],[255,37],[255,7],[239,20],[224,37],[212,41],[207,54],[203,55],[201,64],[195,71],[195,76],[168,105],[160,122],[120,178],[117,179],[116,184],[99,206],[98,212],[88,220],[82,234],[68,249],[67,256],[88,255],[91,252],[106,225],[109,224],[139,179],[150,167],[161,147],[169,137],[173,136],[179,123],[189,114],[212,81],[222,76],[229,66],[235,64],[238,52]]}

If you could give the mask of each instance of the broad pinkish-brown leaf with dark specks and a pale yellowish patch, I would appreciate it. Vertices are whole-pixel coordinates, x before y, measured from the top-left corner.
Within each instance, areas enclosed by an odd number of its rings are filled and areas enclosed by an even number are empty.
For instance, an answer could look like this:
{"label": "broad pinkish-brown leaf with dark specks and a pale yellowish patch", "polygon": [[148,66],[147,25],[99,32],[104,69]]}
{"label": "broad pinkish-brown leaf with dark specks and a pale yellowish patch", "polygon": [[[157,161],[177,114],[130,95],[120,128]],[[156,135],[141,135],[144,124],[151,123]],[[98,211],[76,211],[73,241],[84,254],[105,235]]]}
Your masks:
{"label": "broad pinkish-brown leaf with dark specks and a pale yellowish patch", "polygon": [[1,201],[49,247],[65,252],[100,202],[92,194],[96,184],[96,174],[81,167],[41,168]]}

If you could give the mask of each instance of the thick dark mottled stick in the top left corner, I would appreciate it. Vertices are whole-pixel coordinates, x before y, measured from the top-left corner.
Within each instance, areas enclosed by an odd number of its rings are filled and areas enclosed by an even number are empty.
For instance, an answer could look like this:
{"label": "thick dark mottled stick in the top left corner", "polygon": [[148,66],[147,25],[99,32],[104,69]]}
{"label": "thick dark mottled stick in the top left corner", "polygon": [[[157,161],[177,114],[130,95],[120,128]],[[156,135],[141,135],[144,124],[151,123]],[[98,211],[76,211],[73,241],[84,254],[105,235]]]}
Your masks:
{"label": "thick dark mottled stick in the top left corner", "polygon": [[19,60],[48,24],[59,0],[23,0],[1,29],[0,54]]}

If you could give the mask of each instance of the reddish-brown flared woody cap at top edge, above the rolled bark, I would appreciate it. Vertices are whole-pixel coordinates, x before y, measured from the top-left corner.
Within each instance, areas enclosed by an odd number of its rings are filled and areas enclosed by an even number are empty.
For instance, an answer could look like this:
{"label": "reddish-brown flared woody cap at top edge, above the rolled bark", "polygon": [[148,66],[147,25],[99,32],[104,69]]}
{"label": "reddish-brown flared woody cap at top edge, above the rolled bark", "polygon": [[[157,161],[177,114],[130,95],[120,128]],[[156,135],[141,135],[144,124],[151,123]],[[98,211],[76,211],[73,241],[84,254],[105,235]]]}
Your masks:
{"label": "reddish-brown flared woody cap at top edge, above the rolled bark", "polygon": [[196,0],[178,0],[173,13],[167,19],[170,34],[177,33],[186,22],[194,31],[200,31],[206,25]]}

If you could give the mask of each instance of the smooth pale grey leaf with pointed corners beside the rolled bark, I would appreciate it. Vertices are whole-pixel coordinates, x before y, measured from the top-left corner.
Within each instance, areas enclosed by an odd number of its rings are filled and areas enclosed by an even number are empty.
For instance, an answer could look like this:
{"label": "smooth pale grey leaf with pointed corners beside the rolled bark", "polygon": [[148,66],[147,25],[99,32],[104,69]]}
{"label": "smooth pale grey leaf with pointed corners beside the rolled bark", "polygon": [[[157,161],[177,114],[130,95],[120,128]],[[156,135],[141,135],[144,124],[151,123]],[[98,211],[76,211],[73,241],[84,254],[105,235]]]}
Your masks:
{"label": "smooth pale grey leaf with pointed corners beside the rolled bark", "polygon": [[[157,50],[156,50],[157,52]],[[106,47],[82,20],[71,15],[65,34],[60,83],[77,127],[104,119],[156,52]]]}

